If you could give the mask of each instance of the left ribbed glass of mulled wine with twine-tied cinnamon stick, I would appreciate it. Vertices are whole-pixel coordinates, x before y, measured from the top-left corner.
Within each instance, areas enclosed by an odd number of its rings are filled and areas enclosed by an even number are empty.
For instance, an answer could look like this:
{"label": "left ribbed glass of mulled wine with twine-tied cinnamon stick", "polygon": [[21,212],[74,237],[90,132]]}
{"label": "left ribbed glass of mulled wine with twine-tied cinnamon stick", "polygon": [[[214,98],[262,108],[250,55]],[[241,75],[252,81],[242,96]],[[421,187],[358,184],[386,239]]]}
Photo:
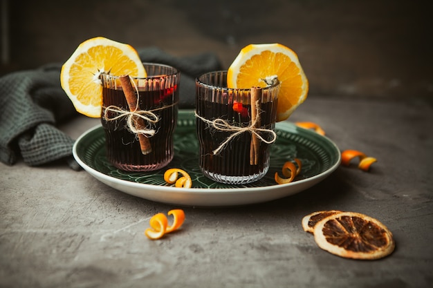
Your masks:
{"label": "left ribbed glass of mulled wine with twine-tied cinnamon stick", "polygon": [[103,73],[102,127],[107,159],[125,171],[154,171],[174,156],[180,73],[144,63],[147,77]]}

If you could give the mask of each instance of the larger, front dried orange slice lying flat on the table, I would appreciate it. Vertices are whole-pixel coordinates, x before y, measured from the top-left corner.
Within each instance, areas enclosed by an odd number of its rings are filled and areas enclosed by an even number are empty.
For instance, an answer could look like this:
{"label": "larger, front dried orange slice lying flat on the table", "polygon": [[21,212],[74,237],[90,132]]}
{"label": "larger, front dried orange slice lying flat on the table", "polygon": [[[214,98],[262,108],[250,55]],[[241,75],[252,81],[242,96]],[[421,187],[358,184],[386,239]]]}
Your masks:
{"label": "larger, front dried orange slice lying flat on the table", "polygon": [[378,220],[361,213],[329,215],[315,224],[313,233],[320,248],[344,258],[383,258],[395,247],[391,231]]}

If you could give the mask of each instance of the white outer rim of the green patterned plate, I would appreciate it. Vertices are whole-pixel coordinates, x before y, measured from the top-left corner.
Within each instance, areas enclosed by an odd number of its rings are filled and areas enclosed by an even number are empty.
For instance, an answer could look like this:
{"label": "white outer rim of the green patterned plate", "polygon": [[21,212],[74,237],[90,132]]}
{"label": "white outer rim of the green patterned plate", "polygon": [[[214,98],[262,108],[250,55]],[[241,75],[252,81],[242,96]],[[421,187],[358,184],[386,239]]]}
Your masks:
{"label": "white outer rim of the green patterned plate", "polygon": [[[278,123],[277,123],[278,125]],[[284,125],[284,124],[283,124]],[[239,188],[176,188],[174,186],[160,186],[147,183],[131,182],[118,179],[110,175],[104,174],[91,166],[87,165],[77,153],[77,146],[80,141],[89,133],[100,128],[100,124],[89,128],[82,133],[73,145],[73,157],[82,168],[95,177],[100,182],[111,186],[113,189],[135,195],[139,198],[162,202],[165,204],[176,204],[181,206],[197,206],[197,207],[225,207],[239,206],[245,204],[256,204],[259,202],[268,202],[277,200],[289,195],[293,195],[300,191],[310,188],[315,184],[324,180],[340,166],[341,155],[338,153],[338,160],[333,166],[326,171],[308,177],[306,179],[297,180],[288,184],[279,184],[273,186],[255,186],[255,187],[239,187]],[[311,133],[315,133],[311,131]],[[326,136],[326,141],[333,146],[335,151],[339,151],[338,146]]]}

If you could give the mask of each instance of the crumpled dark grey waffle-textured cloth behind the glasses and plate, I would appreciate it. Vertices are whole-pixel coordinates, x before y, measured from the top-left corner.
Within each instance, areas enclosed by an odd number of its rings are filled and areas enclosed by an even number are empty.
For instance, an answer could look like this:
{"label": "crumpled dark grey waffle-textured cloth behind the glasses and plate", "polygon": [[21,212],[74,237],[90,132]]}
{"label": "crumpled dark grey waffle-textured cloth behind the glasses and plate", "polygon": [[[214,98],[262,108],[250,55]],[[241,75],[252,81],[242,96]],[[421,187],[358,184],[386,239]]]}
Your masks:
{"label": "crumpled dark grey waffle-textured cloth behind the glasses and plate", "polygon": [[[194,108],[195,78],[220,70],[214,53],[174,57],[155,47],[138,50],[144,62],[158,62],[181,71],[179,108]],[[72,169],[74,140],[56,127],[77,115],[60,86],[62,64],[10,73],[0,78],[0,161],[12,165],[19,157],[29,166],[65,160]]]}

